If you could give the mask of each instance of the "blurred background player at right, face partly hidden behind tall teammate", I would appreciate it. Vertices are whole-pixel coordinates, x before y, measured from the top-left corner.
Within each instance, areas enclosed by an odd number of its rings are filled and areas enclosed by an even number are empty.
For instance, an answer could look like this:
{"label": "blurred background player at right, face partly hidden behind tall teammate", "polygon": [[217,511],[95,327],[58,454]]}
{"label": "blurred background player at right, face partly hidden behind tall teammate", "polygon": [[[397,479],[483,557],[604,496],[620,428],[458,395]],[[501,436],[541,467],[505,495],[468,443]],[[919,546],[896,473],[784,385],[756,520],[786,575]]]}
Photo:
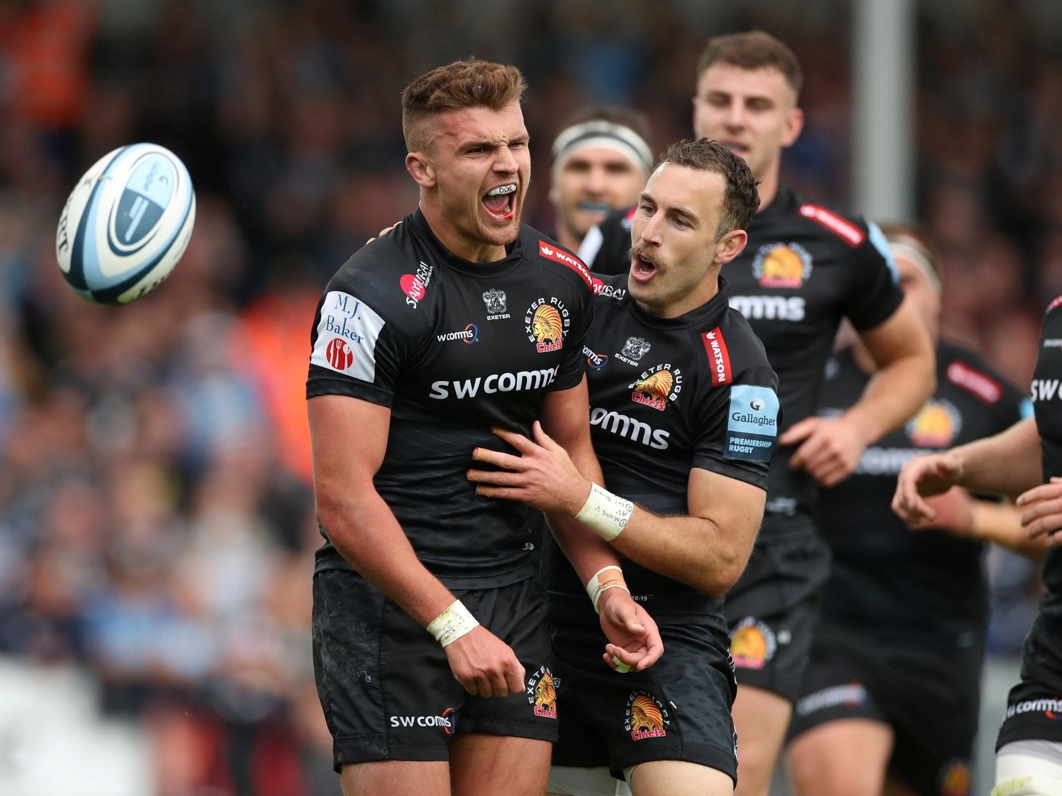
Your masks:
{"label": "blurred background player at right, face partly hidden behind tall teammate", "polygon": [[[989,619],[982,541],[1011,542],[992,529],[1017,524],[1013,507],[960,489],[933,499],[938,517],[920,531],[890,508],[906,461],[997,434],[1032,406],[980,357],[941,338],[931,254],[909,228],[886,232],[904,292],[937,343],[937,390],[820,495],[834,557],[789,728],[800,796],[967,793]],[[839,351],[826,364],[819,414],[842,414],[873,371],[858,344]]]}

